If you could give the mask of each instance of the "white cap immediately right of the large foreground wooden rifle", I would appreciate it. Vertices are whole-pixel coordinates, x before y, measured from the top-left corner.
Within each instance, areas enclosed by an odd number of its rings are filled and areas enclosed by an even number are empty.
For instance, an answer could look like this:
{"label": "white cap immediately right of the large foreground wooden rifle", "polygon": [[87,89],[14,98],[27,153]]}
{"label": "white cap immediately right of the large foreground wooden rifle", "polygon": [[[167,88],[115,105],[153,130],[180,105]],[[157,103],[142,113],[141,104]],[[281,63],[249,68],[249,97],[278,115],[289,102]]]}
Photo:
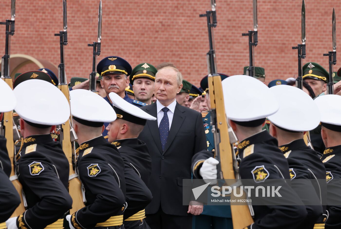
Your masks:
{"label": "white cap immediately right of the large foreground wooden rifle", "polygon": [[244,75],[222,81],[225,112],[234,121],[266,118],[279,109],[279,103],[263,82]]}

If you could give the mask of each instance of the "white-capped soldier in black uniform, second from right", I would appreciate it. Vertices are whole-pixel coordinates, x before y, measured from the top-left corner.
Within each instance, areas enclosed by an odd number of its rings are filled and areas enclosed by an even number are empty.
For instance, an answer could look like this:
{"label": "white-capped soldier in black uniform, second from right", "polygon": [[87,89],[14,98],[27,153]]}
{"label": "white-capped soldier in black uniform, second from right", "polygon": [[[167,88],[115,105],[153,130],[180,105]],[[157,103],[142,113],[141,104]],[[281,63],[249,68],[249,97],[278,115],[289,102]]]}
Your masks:
{"label": "white-capped soldier in black uniform, second from right", "polygon": [[270,91],[280,103],[280,109],[268,116],[270,134],[277,139],[279,149],[288,160],[292,188],[308,212],[299,228],[312,229],[314,225],[320,228],[327,219],[326,168],[317,152],[303,140],[303,134],[320,123],[320,111],[314,100],[297,87],[279,85]]}

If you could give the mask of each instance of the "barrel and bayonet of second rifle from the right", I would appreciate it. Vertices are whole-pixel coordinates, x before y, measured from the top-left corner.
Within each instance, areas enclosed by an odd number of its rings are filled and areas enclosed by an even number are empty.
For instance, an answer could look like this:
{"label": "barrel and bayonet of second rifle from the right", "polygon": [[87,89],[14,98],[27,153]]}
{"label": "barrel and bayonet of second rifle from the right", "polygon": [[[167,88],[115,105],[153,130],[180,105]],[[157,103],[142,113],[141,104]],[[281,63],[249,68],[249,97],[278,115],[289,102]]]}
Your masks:
{"label": "barrel and bayonet of second rifle from the right", "polygon": [[302,59],[306,58],[306,4],[302,0],[302,10],[301,10],[301,34],[302,34],[302,44],[298,44],[292,49],[297,49],[298,58],[298,77],[296,79],[296,87],[303,90],[302,83]]}

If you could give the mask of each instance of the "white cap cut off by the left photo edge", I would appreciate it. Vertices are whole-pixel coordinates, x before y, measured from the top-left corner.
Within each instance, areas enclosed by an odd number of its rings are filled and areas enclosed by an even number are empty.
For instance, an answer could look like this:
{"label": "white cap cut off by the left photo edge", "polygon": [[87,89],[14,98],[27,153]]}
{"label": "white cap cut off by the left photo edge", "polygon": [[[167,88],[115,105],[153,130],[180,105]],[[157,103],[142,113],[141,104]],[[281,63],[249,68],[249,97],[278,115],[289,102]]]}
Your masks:
{"label": "white cap cut off by the left photo edge", "polygon": [[0,112],[12,111],[17,104],[12,88],[0,79]]}

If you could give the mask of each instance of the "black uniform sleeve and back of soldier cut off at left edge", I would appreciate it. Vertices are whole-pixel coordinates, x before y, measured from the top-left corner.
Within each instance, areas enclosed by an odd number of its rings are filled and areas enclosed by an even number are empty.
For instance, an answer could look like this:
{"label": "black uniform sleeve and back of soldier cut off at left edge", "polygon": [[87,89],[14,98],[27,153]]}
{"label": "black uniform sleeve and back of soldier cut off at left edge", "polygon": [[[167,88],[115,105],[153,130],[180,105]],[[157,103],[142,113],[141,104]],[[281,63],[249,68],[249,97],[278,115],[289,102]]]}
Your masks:
{"label": "black uniform sleeve and back of soldier cut off at left edge", "polygon": [[[0,135],[0,228],[20,204],[20,197],[9,177],[11,161],[6,149],[6,138]],[[6,226],[6,225],[4,225]]]}

